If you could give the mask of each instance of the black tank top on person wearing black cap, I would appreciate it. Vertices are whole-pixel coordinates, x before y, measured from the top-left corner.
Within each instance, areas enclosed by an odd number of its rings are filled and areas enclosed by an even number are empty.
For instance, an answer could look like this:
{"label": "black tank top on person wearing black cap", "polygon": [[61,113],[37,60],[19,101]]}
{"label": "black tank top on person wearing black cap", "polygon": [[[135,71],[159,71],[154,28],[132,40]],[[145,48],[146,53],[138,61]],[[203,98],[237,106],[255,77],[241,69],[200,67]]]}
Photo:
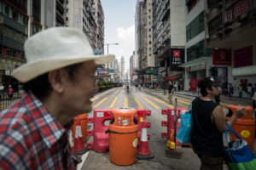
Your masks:
{"label": "black tank top on person wearing black cap", "polygon": [[192,103],[193,127],[191,144],[207,156],[223,156],[222,133],[212,121],[212,111],[218,105],[212,100],[196,98]]}

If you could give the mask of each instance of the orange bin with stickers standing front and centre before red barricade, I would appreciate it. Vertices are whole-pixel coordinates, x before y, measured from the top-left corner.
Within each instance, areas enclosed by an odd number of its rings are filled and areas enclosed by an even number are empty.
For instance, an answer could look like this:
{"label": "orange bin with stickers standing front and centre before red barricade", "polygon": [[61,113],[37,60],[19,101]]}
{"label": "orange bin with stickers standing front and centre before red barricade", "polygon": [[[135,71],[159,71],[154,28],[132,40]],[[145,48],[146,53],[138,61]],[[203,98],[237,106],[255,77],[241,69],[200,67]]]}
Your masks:
{"label": "orange bin with stickers standing front and centre before red barricade", "polygon": [[114,120],[109,124],[109,157],[116,165],[131,165],[137,160],[138,126],[135,109],[113,109]]}

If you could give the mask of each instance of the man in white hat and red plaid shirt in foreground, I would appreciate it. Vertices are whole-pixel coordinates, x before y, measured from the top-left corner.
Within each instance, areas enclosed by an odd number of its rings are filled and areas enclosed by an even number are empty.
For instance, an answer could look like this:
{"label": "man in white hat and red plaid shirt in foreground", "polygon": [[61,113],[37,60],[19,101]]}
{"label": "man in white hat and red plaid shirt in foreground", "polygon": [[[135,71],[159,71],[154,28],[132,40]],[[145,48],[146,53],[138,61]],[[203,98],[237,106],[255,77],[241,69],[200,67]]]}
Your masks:
{"label": "man in white hat and red plaid shirt in foreground", "polygon": [[114,55],[94,55],[84,33],[67,27],[41,31],[24,48],[27,63],[12,76],[26,93],[0,114],[0,169],[75,169],[69,122],[91,111],[96,64]]}

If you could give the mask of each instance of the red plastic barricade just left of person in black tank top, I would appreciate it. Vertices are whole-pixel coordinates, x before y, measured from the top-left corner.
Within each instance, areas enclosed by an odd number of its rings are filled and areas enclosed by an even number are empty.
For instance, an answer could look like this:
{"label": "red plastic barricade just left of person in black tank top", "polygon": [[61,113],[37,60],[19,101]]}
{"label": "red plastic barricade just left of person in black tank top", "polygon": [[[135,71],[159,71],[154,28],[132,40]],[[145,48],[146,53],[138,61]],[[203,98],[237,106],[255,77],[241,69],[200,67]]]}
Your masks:
{"label": "red plastic barricade just left of person in black tank top", "polygon": [[[176,123],[176,135],[177,135],[177,131],[179,128],[179,123],[180,121],[178,119],[180,119],[180,114],[183,114],[187,111],[187,108],[183,108],[183,107],[177,107],[177,114],[176,114],[176,119],[177,119],[177,123]],[[162,127],[167,127],[167,132],[166,133],[161,133],[161,138],[166,138],[167,140],[170,139],[171,137],[171,133],[172,135],[174,134],[174,108],[168,108],[168,109],[162,109],[161,114],[162,115],[167,115],[167,121],[162,121],[161,122],[161,126]],[[178,139],[176,139],[176,146],[190,146],[191,144],[182,144]]]}

